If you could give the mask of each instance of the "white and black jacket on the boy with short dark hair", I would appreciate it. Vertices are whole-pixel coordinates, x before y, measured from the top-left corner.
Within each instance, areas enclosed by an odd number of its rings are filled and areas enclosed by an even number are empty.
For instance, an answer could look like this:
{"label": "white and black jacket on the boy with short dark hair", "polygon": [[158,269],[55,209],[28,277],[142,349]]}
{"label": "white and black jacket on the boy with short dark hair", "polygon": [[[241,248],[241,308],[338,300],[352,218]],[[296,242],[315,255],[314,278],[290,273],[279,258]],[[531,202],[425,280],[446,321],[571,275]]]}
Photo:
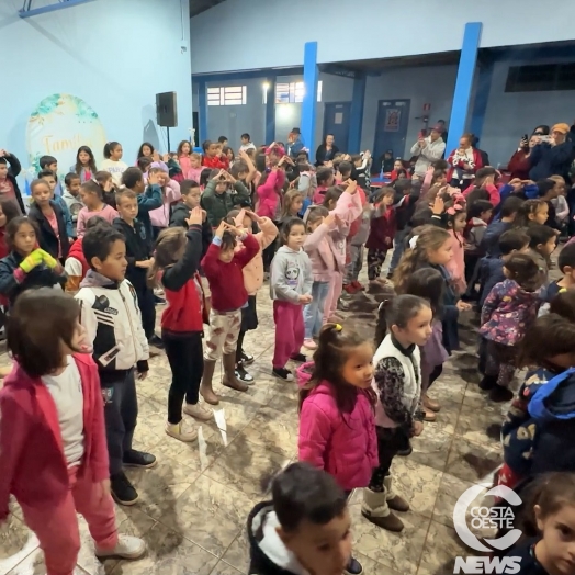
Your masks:
{"label": "white and black jacket on the boy with short dark hair", "polygon": [[129,370],[149,358],[136,291],[127,280],[117,283],[90,270],[75,297],[99,370]]}

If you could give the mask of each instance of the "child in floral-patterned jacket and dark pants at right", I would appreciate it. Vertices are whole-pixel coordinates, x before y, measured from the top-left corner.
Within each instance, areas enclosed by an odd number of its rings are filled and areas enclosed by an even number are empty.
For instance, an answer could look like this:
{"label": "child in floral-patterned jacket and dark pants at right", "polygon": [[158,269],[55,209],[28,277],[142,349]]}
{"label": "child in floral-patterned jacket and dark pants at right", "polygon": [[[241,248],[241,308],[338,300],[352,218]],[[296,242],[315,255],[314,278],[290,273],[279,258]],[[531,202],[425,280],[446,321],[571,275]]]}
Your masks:
{"label": "child in floral-patterned jacket and dark pants at right", "polygon": [[498,283],[485,300],[480,334],[487,340],[487,363],[480,388],[489,391],[493,402],[507,402],[515,374],[517,346],[531,328],[541,304],[544,274],[527,253],[516,253],[504,264],[507,280]]}

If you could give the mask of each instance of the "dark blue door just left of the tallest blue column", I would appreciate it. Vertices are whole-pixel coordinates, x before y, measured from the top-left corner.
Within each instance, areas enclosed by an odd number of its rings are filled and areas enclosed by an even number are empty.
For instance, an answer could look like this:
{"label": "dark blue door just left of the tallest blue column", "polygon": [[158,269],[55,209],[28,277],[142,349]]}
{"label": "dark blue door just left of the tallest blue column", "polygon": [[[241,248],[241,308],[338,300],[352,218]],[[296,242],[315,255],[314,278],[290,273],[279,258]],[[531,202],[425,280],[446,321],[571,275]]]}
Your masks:
{"label": "dark blue door just left of the tallest blue column", "polygon": [[[391,149],[393,157],[408,159],[405,156],[405,139],[409,124],[411,100],[380,100],[377,123],[375,124],[374,161],[380,162],[383,154]],[[380,167],[380,166],[379,166]],[[380,171],[373,167],[373,171]]]}

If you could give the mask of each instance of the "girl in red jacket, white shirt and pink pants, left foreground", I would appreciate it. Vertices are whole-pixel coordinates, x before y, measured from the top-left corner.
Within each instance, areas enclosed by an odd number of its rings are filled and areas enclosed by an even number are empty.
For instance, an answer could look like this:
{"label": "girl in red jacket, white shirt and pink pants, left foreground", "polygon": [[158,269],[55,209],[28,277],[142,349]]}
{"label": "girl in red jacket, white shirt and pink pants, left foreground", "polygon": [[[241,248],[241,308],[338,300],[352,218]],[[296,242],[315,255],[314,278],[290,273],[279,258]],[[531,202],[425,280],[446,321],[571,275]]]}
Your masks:
{"label": "girl in red jacket, white shirt and pink pants, left foreground", "polygon": [[14,365],[0,390],[0,523],[14,495],[47,575],[76,568],[77,512],[99,557],[138,559],[146,549],[115,527],[102,393],[78,318],[71,296],[43,288],[22,295],[7,327]]}

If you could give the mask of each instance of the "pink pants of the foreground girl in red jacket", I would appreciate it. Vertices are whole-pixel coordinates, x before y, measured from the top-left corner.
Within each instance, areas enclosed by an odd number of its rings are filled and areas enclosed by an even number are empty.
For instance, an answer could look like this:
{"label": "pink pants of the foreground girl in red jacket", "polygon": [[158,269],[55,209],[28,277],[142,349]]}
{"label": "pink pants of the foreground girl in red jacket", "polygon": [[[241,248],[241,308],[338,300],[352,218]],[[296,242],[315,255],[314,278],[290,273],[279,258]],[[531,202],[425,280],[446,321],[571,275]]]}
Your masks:
{"label": "pink pants of the foreground girl in red jacket", "polygon": [[38,508],[22,505],[24,520],[44,551],[47,575],[74,574],[80,551],[76,511],[83,515],[98,549],[114,549],[117,544],[112,496],[100,498],[99,485],[78,478],[78,466],[68,470],[69,491],[56,506]]}

